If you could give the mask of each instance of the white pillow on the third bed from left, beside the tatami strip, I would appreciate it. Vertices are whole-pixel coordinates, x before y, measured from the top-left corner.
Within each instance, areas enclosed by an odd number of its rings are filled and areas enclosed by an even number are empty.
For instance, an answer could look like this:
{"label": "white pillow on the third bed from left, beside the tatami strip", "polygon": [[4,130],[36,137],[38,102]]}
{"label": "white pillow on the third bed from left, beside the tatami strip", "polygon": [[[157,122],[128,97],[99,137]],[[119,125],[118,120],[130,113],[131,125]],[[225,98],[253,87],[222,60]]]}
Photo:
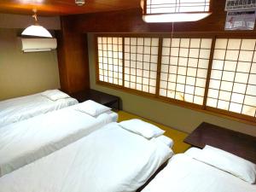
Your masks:
{"label": "white pillow on the third bed from left, beside the tatami strip", "polygon": [[165,131],[159,127],[149,124],[141,119],[130,119],[119,123],[125,130],[137,133],[143,137],[151,139],[163,135]]}

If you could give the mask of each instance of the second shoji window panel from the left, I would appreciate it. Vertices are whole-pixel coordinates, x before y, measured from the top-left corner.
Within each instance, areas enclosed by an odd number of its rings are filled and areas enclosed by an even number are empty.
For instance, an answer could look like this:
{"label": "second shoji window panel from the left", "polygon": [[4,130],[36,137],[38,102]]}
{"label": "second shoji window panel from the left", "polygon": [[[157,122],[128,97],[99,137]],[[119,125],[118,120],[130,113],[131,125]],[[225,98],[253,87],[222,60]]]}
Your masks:
{"label": "second shoji window panel from the left", "polygon": [[125,38],[125,87],[155,94],[159,38]]}

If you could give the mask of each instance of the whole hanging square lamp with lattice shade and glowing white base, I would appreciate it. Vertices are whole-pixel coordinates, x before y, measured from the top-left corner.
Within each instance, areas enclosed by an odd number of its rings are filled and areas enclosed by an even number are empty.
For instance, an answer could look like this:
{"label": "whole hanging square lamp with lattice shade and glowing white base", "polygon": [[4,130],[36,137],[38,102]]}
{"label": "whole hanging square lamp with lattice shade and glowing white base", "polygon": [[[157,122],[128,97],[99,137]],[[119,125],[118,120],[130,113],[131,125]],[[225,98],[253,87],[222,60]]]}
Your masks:
{"label": "whole hanging square lamp with lattice shade and glowing white base", "polygon": [[211,15],[211,0],[142,0],[143,20],[148,23],[196,21]]}

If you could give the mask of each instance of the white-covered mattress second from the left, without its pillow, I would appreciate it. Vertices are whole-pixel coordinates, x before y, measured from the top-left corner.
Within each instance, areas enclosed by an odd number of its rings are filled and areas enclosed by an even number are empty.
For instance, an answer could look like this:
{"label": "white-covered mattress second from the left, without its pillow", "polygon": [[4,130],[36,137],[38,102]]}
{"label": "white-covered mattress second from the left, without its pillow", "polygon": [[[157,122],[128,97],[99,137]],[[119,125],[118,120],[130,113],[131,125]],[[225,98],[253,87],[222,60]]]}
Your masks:
{"label": "white-covered mattress second from the left, without its pillow", "polygon": [[94,118],[72,106],[2,127],[0,176],[77,141],[112,119],[107,113]]}

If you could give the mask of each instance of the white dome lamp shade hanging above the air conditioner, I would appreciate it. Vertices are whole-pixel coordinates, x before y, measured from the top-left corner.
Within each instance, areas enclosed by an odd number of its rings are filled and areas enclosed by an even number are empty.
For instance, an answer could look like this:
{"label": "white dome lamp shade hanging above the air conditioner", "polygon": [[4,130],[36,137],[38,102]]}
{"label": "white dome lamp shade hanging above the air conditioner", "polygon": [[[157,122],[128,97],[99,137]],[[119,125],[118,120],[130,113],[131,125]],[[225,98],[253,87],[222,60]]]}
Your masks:
{"label": "white dome lamp shade hanging above the air conditioner", "polygon": [[26,29],[21,33],[21,35],[52,38],[52,35],[44,28],[44,26],[35,25],[26,27]]}

